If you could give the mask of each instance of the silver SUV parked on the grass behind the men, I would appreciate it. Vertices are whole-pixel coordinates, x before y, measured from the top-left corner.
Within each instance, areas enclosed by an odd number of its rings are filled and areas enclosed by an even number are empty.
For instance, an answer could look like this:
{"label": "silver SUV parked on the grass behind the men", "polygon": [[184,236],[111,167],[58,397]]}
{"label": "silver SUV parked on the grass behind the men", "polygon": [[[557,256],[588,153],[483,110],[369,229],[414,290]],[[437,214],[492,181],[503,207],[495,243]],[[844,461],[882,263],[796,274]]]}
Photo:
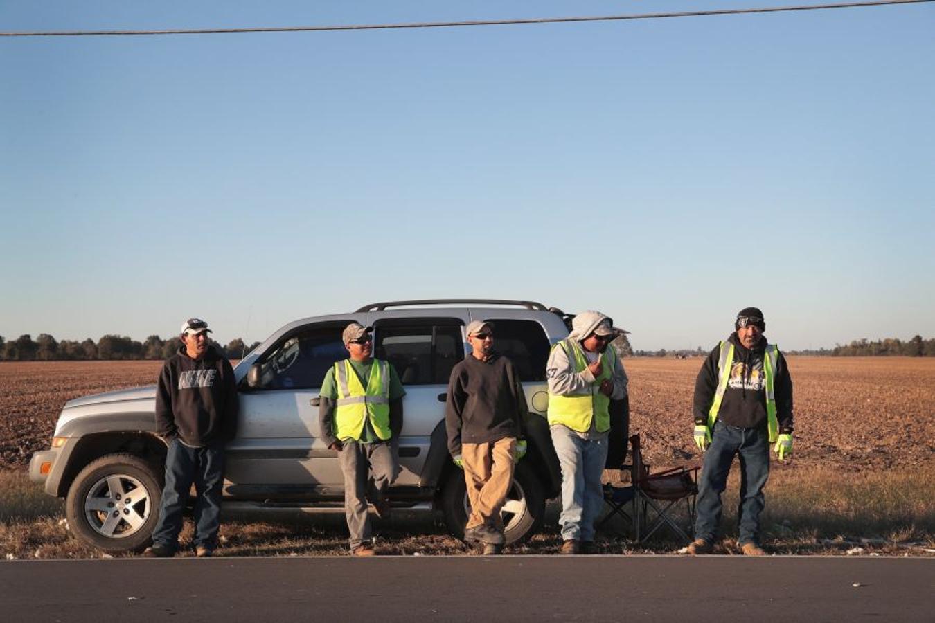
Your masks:
{"label": "silver SUV parked on the grass behind the men", "polygon": [[[447,305],[459,306],[447,306]],[[482,305],[482,306],[475,306]],[[496,305],[496,306],[492,306]],[[468,497],[445,432],[445,392],[455,363],[470,352],[465,327],[496,324],[496,349],[523,379],[528,453],[503,507],[508,543],[541,526],[545,500],[561,473],[545,419],[545,363],[568,335],[569,317],[530,301],[430,300],[368,304],[349,314],[296,320],[237,364],[237,437],[227,446],[225,507],[334,508],[344,499],[338,453],[318,425],[318,391],[335,361],[347,356],[341,331],[373,326],[374,356],[393,363],[406,387],[399,437],[402,473],[390,489],[394,507],[440,510],[449,531],[464,534]],[[65,497],[68,526],[106,552],[150,543],[163,484],[165,444],[155,435],[155,386],[68,401],[50,450],[37,452],[30,476]]]}

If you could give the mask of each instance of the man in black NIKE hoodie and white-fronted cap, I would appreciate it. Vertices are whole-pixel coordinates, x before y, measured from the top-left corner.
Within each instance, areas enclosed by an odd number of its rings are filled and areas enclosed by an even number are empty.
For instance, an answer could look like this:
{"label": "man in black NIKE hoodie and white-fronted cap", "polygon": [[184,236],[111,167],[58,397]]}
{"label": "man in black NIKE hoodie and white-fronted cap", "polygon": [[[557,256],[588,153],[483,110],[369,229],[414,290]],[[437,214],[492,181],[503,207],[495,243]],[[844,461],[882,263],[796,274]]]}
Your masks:
{"label": "man in black NIKE hoodie and white-fronted cap", "polygon": [[163,364],[156,386],[156,432],[168,446],[159,521],[150,557],[174,556],[194,482],[194,550],[210,556],[221,526],[224,444],[237,428],[237,384],[230,361],[208,342],[208,323],[188,319],[184,346]]}

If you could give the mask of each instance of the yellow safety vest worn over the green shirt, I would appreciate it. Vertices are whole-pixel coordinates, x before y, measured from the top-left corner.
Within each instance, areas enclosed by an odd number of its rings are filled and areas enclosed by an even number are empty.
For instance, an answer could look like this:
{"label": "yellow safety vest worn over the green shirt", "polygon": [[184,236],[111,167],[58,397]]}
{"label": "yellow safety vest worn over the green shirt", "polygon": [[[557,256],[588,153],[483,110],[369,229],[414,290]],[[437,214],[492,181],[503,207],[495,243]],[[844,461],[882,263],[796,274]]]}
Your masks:
{"label": "yellow safety vest worn over the green shirt", "polygon": [[351,367],[351,360],[335,362],[335,428],[338,439],[360,439],[365,418],[369,418],[373,432],[381,439],[390,438],[390,365],[373,360],[367,389]]}

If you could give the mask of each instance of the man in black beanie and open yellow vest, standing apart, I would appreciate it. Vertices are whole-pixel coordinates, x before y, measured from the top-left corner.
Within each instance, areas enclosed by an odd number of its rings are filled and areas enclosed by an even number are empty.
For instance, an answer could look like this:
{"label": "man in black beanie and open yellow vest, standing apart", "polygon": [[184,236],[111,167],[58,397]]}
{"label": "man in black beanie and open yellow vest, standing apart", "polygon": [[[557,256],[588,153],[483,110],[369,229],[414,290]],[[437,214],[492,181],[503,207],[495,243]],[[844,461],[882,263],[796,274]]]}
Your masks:
{"label": "man in black beanie and open yellow vest, standing apart", "polygon": [[748,556],[763,556],[759,515],[770,475],[770,444],[775,444],[779,460],[792,452],[792,379],[785,358],[767,343],[766,321],[756,307],[741,309],[734,329],[714,347],[695,383],[695,443],[705,455],[696,539],[688,545],[689,554],[712,551],[721,521],[721,493],[730,464],[740,456],[738,544]]}

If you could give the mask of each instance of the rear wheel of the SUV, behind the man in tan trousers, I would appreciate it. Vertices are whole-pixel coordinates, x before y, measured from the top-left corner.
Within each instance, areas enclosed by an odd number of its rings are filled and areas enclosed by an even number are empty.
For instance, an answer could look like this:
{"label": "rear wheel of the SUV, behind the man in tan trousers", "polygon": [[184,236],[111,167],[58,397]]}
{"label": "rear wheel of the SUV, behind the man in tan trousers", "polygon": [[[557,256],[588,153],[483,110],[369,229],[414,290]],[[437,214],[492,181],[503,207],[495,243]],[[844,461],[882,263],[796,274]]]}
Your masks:
{"label": "rear wheel of the SUV, behind the man in tan trousers", "polygon": [[[441,491],[441,505],[448,531],[464,540],[470,504],[463,471],[454,468],[449,472]],[[500,515],[503,517],[503,536],[507,545],[524,542],[542,527],[545,517],[542,484],[533,469],[523,461],[520,461],[513,473],[507,503]]]}

